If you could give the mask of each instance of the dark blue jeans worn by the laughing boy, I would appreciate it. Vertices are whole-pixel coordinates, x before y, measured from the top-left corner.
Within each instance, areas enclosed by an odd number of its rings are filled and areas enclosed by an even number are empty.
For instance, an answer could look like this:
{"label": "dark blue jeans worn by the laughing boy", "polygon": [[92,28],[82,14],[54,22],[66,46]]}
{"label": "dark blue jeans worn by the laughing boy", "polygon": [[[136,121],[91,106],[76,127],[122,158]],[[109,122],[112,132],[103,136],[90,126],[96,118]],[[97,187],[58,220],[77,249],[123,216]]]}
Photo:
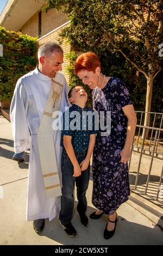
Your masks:
{"label": "dark blue jeans worn by the laughing boy", "polygon": [[[85,152],[76,152],[76,157],[79,164],[85,159]],[[74,205],[74,184],[77,186],[78,206],[77,211],[79,214],[84,214],[87,208],[86,190],[89,185],[90,179],[90,166],[82,171],[78,177],[73,177],[73,164],[68,157],[65,150],[62,152],[61,157],[61,171],[62,171],[62,196],[61,196],[61,210],[59,213],[59,220],[61,222],[70,222],[72,218],[73,205]]]}

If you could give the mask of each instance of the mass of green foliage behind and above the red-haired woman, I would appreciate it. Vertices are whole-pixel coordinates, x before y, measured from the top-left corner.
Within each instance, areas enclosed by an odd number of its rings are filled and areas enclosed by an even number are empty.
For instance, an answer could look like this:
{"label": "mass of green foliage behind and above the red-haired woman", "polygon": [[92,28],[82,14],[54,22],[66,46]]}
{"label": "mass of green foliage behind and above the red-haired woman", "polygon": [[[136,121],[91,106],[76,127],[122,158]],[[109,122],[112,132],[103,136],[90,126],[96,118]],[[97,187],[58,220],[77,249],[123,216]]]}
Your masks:
{"label": "mass of green foliage behind and above the red-haired woman", "polygon": [[46,0],[45,11],[51,8],[62,9],[71,20],[60,35],[76,52],[70,54],[70,86],[79,83],[73,74],[76,55],[93,51],[101,60],[103,74],[126,82],[136,110],[145,110],[146,77],[161,70],[154,80],[151,109],[161,111],[162,0]]}

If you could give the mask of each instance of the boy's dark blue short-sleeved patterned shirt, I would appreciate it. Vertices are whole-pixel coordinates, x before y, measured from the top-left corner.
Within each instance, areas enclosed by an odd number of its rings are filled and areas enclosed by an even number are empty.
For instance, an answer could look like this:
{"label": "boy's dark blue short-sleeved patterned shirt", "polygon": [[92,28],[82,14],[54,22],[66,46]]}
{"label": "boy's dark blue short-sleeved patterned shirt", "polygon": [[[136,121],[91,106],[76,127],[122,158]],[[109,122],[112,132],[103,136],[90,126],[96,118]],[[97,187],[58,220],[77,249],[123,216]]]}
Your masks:
{"label": "boy's dark blue short-sleeved patterned shirt", "polygon": [[[80,115],[80,122],[79,121],[73,122],[75,130],[72,130],[71,126],[70,126],[71,121],[76,119],[76,117],[77,117],[77,115],[70,117],[70,113],[72,113],[73,111],[77,111]],[[69,109],[67,109],[67,111],[65,111],[65,113],[63,114],[62,131],[61,131],[61,147],[62,148],[64,148],[63,136],[68,135],[68,136],[72,137],[71,143],[72,143],[74,151],[83,152],[83,151],[87,150],[87,148],[89,146],[90,135],[97,133],[97,130],[95,130],[94,118],[92,118],[93,120],[88,120],[88,118],[86,117],[86,121],[85,121],[86,126],[84,126],[84,124],[82,122],[82,116],[84,118],[84,115],[86,114],[86,112],[89,112],[89,111],[91,113],[94,112],[93,109],[90,107],[81,108],[75,104],[73,104]],[[67,118],[68,120],[66,119],[67,121],[65,120],[65,115],[66,115],[66,117],[68,117]],[[85,119],[83,119],[83,120],[85,120]],[[91,126],[89,127],[90,121],[92,121],[92,127]],[[83,124],[84,130],[82,129],[82,124]],[[91,130],[89,130],[90,128],[91,128]]]}

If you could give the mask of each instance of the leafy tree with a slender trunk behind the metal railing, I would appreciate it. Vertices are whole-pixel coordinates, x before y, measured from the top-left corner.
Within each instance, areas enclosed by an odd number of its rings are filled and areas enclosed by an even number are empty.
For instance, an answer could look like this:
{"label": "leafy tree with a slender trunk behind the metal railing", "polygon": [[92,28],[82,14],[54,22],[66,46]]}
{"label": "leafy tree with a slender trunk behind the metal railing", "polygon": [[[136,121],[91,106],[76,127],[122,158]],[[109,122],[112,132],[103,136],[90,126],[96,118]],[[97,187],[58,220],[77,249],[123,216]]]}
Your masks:
{"label": "leafy tree with a slender trunk behind the metal railing", "polygon": [[153,81],[163,64],[159,56],[163,1],[47,0],[45,11],[50,8],[62,8],[70,19],[62,36],[74,50],[120,52],[137,69],[137,75],[141,72],[146,77],[146,112],[150,112]]}

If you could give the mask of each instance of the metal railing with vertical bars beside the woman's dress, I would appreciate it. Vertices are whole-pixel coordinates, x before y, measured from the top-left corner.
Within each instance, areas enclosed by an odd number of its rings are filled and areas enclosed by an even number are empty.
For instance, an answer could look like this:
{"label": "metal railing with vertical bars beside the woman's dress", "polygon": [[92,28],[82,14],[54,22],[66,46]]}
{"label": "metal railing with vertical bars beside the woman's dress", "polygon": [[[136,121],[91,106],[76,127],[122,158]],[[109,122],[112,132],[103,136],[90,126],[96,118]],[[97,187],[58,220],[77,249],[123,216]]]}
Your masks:
{"label": "metal railing with vertical bars beside the woman's dress", "polygon": [[[145,113],[145,112],[143,112]],[[151,112],[152,113],[152,112]],[[160,127],[154,127],[156,114],[161,114]],[[142,122],[142,114],[140,123]],[[133,147],[131,152],[131,158],[129,160],[129,174],[132,178],[131,189],[139,191],[141,194],[159,202],[163,205],[163,167],[162,167],[162,149],[163,143],[161,143],[161,129],[162,125],[162,113],[154,113],[153,126],[136,125],[138,133],[136,140],[133,140]],[[146,149],[146,136],[143,136],[141,143],[139,138],[141,137],[141,129],[145,130],[145,134],[148,131],[150,133],[150,139],[148,140],[148,148]],[[159,145],[159,146],[158,146]],[[135,150],[139,148],[140,150]],[[150,154],[147,154],[147,152]],[[133,160],[136,152],[136,161]],[[139,158],[137,158],[139,156]],[[144,158],[143,158],[144,157]],[[137,161],[137,159],[139,159]],[[133,160],[133,166],[131,162]],[[136,167],[136,162],[137,167]],[[141,169],[141,171],[140,171]],[[141,180],[141,182],[139,182]]]}

